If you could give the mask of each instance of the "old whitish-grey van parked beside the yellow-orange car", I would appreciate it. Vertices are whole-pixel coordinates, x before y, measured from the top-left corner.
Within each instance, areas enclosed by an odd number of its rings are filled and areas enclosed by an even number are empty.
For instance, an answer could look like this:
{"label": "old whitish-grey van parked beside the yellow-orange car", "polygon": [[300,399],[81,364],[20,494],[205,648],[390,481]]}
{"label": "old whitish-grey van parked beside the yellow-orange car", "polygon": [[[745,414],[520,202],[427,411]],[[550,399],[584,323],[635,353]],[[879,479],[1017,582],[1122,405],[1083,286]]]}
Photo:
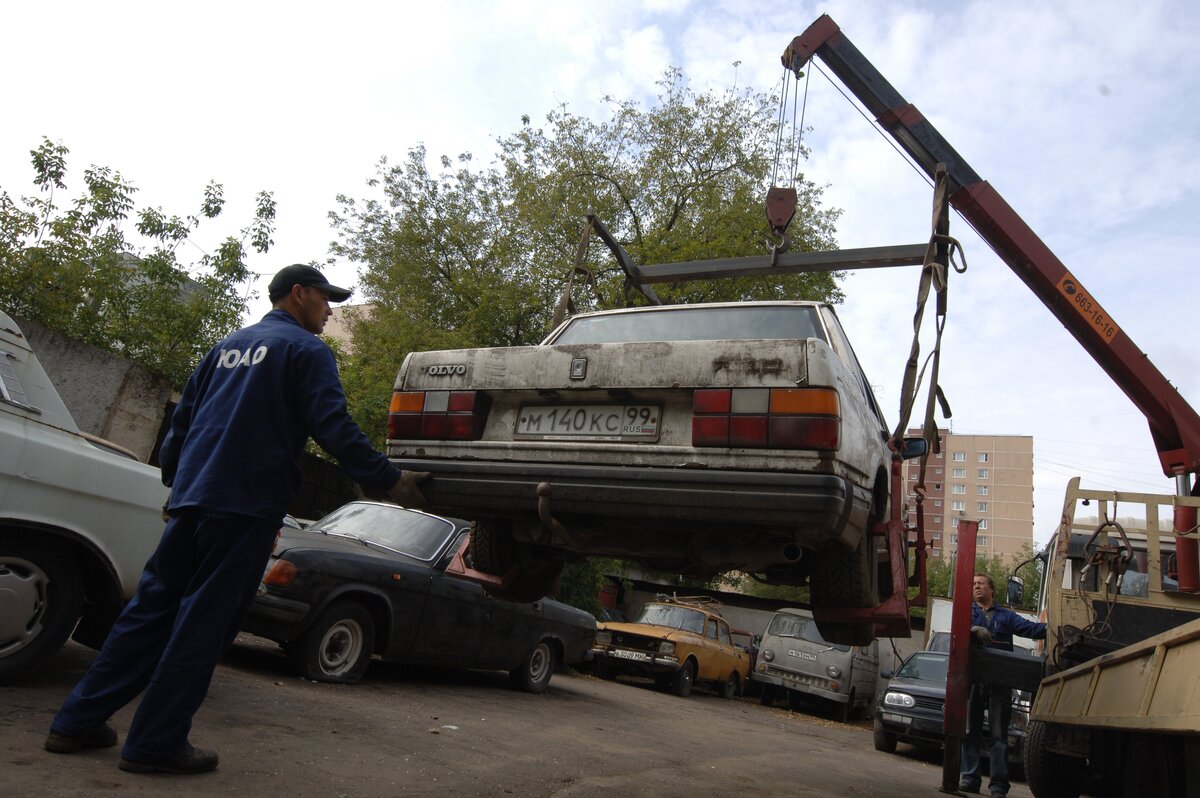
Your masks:
{"label": "old whitish-grey van parked beside the yellow-orange car", "polygon": [[875,704],[878,677],[877,641],[866,646],[828,643],[811,612],[792,608],[772,616],[750,674],[762,686],[762,703],[770,706],[786,694],[794,708],[803,697],[812,696],[829,702],[840,721]]}

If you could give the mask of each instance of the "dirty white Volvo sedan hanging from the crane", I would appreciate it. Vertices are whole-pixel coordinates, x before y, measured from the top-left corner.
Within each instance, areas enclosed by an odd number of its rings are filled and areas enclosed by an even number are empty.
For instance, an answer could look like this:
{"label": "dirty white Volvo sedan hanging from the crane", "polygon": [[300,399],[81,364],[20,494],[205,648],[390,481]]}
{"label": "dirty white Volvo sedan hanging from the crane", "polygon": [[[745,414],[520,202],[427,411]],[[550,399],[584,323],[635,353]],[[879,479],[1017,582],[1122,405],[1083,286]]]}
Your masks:
{"label": "dirty white Volvo sedan hanging from the crane", "polygon": [[[476,565],[551,583],[570,553],[810,584],[814,606],[890,594],[888,427],[830,305],[581,313],[539,346],[415,352],[388,454],[432,509],[476,518]],[[920,454],[913,450],[905,454]],[[829,622],[866,643],[874,624]]]}

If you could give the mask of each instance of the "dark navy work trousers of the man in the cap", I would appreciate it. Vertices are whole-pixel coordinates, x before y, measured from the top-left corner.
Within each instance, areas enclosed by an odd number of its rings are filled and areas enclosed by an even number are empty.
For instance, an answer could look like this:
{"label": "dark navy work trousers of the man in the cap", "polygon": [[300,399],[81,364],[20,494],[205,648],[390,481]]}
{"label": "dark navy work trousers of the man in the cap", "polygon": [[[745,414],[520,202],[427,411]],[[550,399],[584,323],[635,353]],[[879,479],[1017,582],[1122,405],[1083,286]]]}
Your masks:
{"label": "dark navy work trousers of the man in the cap", "polygon": [[124,756],[152,762],[184,751],[192,715],[250,611],[278,528],[250,516],[173,514],[137,594],[50,730],[98,728],[144,690]]}

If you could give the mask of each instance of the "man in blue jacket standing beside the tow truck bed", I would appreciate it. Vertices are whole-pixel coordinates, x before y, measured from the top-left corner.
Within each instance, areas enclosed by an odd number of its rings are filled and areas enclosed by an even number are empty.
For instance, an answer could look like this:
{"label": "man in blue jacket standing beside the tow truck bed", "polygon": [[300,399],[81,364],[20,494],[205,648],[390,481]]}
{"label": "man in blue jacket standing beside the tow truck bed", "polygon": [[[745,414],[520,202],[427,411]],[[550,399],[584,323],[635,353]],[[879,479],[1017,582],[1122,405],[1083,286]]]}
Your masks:
{"label": "man in blue jacket standing beside the tow truck bed", "polygon": [[[1045,640],[1046,625],[1026,620],[1008,607],[996,606],[996,586],[986,574],[971,580],[971,634],[991,648],[1013,650],[1013,635]],[[1009,688],[977,684],[973,688],[967,720],[967,736],[962,739],[962,768],[959,790],[979,792],[983,776],[979,772],[979,748],[983,739],[983,709],[988,707],[988,732],[991,734],[991,756],[988,762],[988,791],[992,798],[1008,794],[1008,722],[1013,713],[1013,691]]]}

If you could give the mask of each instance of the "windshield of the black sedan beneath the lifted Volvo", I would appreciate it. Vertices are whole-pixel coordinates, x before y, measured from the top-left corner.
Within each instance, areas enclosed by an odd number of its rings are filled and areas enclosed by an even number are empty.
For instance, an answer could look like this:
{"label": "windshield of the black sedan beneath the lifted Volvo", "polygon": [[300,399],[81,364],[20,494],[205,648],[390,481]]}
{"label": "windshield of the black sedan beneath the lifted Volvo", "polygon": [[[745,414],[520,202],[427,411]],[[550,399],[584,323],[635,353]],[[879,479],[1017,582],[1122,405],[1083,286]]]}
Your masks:
{"label": "windshield of the black sedan beneath the lifted Volvo", "polygon": [[432,560],[454,532],[445,518],[386,504],[352,502],[308,529],[366,540],[385,548]]}

